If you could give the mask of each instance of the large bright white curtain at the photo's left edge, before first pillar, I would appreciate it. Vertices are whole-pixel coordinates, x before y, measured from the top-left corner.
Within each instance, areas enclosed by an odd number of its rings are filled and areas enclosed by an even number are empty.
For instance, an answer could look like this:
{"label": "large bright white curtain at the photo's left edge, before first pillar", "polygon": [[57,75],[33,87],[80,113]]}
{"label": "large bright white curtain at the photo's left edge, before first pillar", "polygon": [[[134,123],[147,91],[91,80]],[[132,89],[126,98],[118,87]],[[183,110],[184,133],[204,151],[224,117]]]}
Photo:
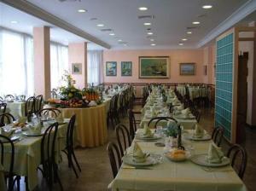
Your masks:
{"label": "large bright white curtain at the photo's left edge, before first pillar", "polygon": [[0,28],[0,95],[34,94],[32,50],[31,37]]}

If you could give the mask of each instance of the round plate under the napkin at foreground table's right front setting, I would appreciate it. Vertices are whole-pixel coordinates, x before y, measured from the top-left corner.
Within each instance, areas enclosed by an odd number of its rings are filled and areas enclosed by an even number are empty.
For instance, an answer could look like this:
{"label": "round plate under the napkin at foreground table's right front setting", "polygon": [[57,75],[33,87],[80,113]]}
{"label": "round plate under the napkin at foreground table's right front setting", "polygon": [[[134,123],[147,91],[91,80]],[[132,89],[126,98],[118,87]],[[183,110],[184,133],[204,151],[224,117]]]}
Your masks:
{"label": "round plate under the napkin at foreground table's right front setting", "polygon": [[230,165],[230,159],[227,157],[224,157],[221,163],[209,163],[207,161],[207,153],[195,154],[190,157],[190,160],[197,165],[204,165],[204,166],[210,166],[210,167]]}

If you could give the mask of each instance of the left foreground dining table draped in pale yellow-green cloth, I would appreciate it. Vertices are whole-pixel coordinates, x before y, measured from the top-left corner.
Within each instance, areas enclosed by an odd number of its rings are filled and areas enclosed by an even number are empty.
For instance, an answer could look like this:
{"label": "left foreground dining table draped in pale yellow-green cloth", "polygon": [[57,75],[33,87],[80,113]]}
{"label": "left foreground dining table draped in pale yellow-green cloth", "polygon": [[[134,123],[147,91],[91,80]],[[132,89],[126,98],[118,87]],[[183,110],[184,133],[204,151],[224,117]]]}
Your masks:
{"label": "left foreground dining table draped in pale yellow-green cloth", "polygon": [[[44,130],[54,122],[55,120],[44,122],[40,135],[30,135],[27,130],[18,129],[11,137],[15,146],[14,174],[20,177],[27,177],[29,190],[33,190],[38,185],[38,165],[41,164],[42,137]],[[61,162],[61,150],[66,147],[68,122],[69,119],[64,119],[63,122],[59,123],[55,144],[55,159],[57,163]],[[4,157],[9,158],[10,147],[9,145],[4,147],[6,147],[4,149]],[[3,169],[9,169],[9,160],[4,160]]]}

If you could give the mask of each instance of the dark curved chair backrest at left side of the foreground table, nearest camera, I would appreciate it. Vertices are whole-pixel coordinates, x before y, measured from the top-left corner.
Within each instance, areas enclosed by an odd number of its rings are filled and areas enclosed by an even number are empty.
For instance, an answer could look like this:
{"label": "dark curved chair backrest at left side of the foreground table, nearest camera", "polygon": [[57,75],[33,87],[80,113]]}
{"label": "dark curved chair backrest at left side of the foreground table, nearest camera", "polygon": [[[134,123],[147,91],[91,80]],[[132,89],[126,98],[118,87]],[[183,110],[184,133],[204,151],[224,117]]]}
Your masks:
{"label": "dark curved chair backrest at left side of the foreground table, nearest camera", "polygon": [[119,171],[120,166],[122,165],[119,147],[113,142],[108,142],[107,150],[113,177],[115,177]]}

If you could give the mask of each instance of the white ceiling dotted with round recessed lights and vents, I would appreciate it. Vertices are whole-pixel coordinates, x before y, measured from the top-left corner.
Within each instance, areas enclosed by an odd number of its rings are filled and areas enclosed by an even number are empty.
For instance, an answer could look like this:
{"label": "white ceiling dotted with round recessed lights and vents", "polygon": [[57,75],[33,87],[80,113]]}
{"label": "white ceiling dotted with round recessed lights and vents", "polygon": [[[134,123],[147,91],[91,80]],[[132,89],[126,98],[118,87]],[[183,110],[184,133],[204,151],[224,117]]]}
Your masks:
{"label": "white ceiling dotted with round recessed lights and vents", "polygon": [[[252,1],[252,0],[251,0]],[[253,0],[254,1],[254,0]],[[168,49],[181,48],[178,43],[183,42],[182,48],[195,48],[201,39],[205,38],[231,14],[241,8],[248,0],[27,0],[37,7],[54,14],[61,20],[76,26],[108,43],[111,49]],[[202,5],[211,4],[212,9],[202,9]],[[230,6],[231,5],[231,6]],[[141,11],[139,7],[147,7]],[[79,13],[78,9],[87,12]],[[138,16],[154,15],[154,19],[138,19]],[[253,18],[255,14],[252,14]],[[11,20],[17,20],[12,24]],[[256,20],[256,18],[254,19]],[[200,21],[196,26],[192,21]],[[143,26],[150,22],[151,26]],[[103,27],[96,26],[104,24]],[[49,22],[37,19],[0,3],[0,26],[9,27],[17,31],[32,33],[33,26],[51,26],[51,38],[57,42],[82,42],[84,38],[66,32]],[[196,26],[189,30],[187,27]],[[150,30],[148,30],[150,28]],[[102,32],[101,29],[112,29]],[[147,35],[147,32],[153,35]],[[114,33],[110,36],[109,33]],[[154,42],[150,39],[154,37]],[[122,41],[119,41],[122,40]],[[90,41],[90,40],[89,40]],[[155,43],[155,46],[151,46]],[[125,46],[124,44],[127,44]],[[102,49],[95,43],[89,43],[89,49]]]}

